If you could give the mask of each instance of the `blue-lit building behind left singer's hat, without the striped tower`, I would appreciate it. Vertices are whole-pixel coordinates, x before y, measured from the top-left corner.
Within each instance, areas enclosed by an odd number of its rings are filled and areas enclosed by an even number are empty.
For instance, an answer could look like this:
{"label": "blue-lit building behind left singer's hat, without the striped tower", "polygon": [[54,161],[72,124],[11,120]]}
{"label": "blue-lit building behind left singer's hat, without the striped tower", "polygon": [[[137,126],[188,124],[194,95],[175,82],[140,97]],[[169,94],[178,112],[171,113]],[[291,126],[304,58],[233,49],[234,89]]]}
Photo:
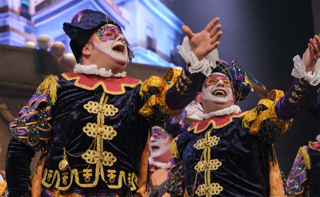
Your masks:
{"label": "blue-lit building behind left singer's hat, without the striped tower", "polygon": [[102,11],[120,24],[134,51],[133,62],[164,67],[179,63],[176,46],[181,43],[183,22],[159,0],[62,0],[32,16],[36,37],[47,34],[52,42],[64,42],[66,52],[72,53],[62,26],[84,9]]}

